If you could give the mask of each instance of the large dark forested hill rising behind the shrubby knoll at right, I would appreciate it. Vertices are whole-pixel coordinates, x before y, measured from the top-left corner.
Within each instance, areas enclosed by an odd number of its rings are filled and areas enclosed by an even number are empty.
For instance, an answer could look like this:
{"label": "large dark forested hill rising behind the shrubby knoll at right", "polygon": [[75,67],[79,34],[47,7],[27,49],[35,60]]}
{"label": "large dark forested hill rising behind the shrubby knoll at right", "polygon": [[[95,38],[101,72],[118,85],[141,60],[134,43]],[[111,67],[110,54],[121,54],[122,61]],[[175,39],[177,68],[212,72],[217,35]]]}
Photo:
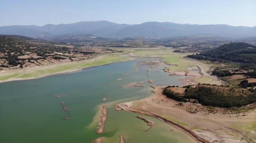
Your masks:
{"label": "large dark forested hill rising behind the shrubby knoll at right", "polygon": [[189,55],[189,58],[202,60],[230,60],[239,63],[256,63],[256,46],[248,43],[224,44],[200,54]]}

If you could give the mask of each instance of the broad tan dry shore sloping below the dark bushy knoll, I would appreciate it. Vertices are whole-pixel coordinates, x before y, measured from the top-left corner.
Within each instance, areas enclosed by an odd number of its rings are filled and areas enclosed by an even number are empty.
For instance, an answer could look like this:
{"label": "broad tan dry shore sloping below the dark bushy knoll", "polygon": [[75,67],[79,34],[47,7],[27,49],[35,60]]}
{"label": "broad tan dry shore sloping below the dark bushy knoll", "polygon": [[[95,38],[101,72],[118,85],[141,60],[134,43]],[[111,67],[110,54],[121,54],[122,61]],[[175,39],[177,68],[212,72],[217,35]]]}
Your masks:
{"label": "broad tan dry shore sloping below the dark bushy knoll", "polygon": [[[252,127],[256,119],[255,110],[239,118],[222,113],[189,113],[179,106],[178,102],[162,95],[163,87],[151,87],[154,88],[153,95],[145,99],[117,104],[115,110],[157,118],[185,132],[199,143],[245,143],[246,139],[256,142],[255,130]],[[190,104],[185,103],[184,106],[189,107]]]}

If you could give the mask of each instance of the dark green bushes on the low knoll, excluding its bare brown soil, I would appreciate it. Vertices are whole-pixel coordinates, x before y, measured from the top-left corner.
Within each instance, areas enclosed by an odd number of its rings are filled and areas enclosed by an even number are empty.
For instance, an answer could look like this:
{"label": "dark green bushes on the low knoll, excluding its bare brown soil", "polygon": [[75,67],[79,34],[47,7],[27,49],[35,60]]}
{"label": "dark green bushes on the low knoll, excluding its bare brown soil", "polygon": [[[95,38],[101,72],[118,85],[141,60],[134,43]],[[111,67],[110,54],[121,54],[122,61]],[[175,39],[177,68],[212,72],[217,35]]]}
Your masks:
{"label": "dark green bushes on the low knoll, excluding its bare brown soil", "polygon": [[256,93],[252,93],[248,96],[224,95],[220,91],[213,90],[211,87],[196,86],[190,87],[185,90],[184,95],[179,95],[168,88],[164,88],[163,94],[167,98],[171,98],[178,102],[188,102],[189,99],[195,99],[198,103],[205,106],[230,108],[230,107],[242,107],[256,102]]}

